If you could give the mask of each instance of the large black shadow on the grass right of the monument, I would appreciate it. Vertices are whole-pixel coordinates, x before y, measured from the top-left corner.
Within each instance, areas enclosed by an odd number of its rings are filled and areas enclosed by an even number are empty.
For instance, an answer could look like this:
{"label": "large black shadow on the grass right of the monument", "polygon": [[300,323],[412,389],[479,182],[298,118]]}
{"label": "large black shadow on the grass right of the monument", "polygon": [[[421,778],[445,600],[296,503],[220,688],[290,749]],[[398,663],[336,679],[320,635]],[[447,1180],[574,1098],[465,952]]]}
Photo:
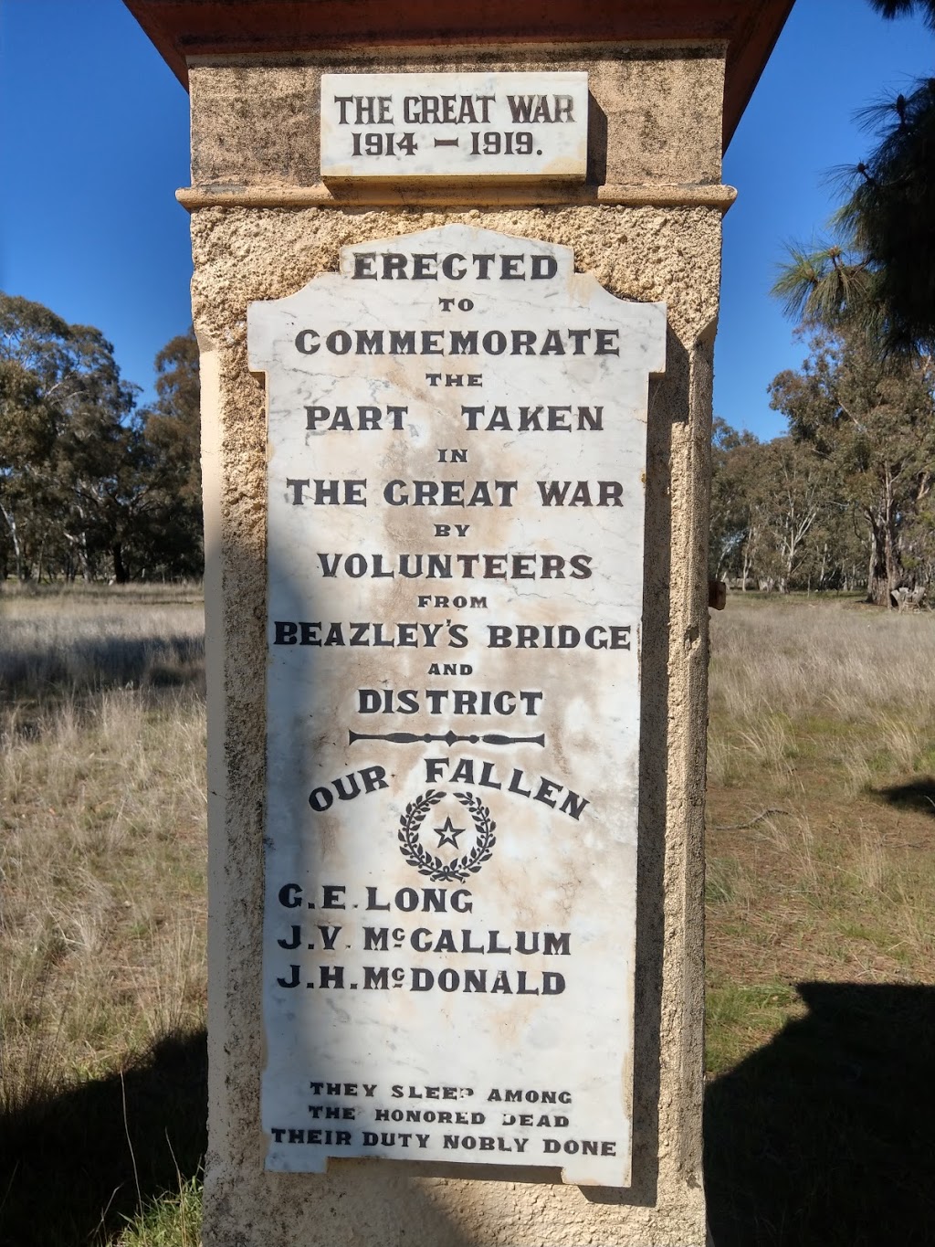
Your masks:
{"label": "large black shadow on the grass right of the monument", "polygon": [[798,985],[808,1015],[708,1087],[717,1247],[935,1245],[935,988]]}

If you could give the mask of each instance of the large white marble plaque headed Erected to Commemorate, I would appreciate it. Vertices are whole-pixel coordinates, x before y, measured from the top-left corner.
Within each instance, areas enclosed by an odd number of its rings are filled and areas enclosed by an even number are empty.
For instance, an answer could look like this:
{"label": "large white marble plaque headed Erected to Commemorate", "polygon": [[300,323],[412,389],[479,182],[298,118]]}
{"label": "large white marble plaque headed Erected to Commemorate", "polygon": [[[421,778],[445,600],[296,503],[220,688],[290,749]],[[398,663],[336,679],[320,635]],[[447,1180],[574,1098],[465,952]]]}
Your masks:
{"label": "large white marble plaque headed Erected to Commemorate", "polygon": [[445,226],[253,303],[267,1165],[626,1185],[664,308]]}

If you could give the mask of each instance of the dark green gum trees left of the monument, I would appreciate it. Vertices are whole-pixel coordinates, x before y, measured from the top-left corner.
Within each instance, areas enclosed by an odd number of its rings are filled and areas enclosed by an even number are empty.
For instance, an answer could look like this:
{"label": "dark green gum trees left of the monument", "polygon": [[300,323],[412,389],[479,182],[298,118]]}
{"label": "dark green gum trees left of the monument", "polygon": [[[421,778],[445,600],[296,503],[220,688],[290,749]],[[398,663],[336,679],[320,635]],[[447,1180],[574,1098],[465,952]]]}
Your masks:
{"label": "dark green gum trees left of the monument", "polygon": [[98,329],[0,293],[0,575],[86,581],[198,575],[193,334],[158,355],[136,412]]}

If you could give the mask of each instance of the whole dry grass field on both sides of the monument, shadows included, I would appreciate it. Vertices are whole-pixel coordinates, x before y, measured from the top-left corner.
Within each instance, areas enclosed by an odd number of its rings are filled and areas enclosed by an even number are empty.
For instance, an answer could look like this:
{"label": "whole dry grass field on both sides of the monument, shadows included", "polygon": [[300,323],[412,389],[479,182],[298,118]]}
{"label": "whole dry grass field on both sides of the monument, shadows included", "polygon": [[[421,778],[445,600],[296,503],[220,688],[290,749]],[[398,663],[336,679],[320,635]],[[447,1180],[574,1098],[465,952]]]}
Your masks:
{"label": "whole dry grass field on both sides of the monument, shadows included", "polygon": [[[0,596],[0,1245],[196,1247],[202,609]],[[935,1243],[935,616],[713,620],[717,1247]]]}

